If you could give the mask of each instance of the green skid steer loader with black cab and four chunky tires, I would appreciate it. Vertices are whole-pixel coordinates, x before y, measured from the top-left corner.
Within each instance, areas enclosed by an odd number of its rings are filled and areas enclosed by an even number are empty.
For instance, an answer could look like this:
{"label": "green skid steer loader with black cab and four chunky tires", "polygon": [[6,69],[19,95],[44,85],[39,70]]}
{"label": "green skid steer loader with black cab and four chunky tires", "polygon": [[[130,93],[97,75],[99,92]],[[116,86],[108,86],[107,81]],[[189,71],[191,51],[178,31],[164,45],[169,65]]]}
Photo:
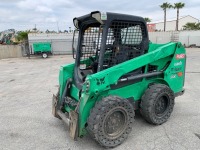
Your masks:
{"label": "green skid steer loader with black cab and four chunky tires", "polygon": [[184,93],[185,48],[149,42],[142,17],[99,11],[74,18],[75,63],[61,66],[53,115],[73,139],[89,133],[116,147],[128,137],[135,110],[154,125],[166,122]]}

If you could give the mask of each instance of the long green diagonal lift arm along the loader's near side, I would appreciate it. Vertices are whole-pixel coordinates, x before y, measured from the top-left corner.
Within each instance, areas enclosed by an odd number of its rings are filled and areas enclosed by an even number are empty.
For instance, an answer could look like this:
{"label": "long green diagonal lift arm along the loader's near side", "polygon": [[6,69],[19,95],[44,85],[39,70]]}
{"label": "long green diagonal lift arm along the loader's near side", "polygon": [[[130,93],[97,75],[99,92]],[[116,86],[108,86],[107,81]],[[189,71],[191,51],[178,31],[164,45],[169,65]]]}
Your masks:
{"label": "long green diagonal lift arm along the loader's near side", "polygon": [[[175,48],[175,43],[169,43],[164,46],[160,46],[156,50],[146,53],[140,57],[131,59],[129,61],[118,64],[114,67],[108,68],[96,74],[87,76],[86,80],[90,82],[91,87],[90,92],[102,92],[104,90],[109,89],[109,86],[112,84],[116,84],[118,79],[122,75],[136,70],[140,67],[143,67],[147,64],[150,64],[152,62],[173,55],[175,52]],[[162,64],[162,62],[160,62],[160,64]],[[102,79],[104,79],[104,84],[101,83],[100,85],[97,85],[97,81]]]}

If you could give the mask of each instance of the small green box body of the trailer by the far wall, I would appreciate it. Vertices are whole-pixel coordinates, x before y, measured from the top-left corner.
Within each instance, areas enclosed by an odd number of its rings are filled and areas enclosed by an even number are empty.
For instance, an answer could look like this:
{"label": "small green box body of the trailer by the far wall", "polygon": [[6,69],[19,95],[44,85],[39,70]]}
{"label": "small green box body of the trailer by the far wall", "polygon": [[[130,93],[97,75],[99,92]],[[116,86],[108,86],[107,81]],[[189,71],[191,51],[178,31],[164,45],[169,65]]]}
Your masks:
{"label": "small green box body of the trailer by the far wall", "polygon": [[49,42],[33,43],[33,51],[34,53],[51,52],[51,43]]}

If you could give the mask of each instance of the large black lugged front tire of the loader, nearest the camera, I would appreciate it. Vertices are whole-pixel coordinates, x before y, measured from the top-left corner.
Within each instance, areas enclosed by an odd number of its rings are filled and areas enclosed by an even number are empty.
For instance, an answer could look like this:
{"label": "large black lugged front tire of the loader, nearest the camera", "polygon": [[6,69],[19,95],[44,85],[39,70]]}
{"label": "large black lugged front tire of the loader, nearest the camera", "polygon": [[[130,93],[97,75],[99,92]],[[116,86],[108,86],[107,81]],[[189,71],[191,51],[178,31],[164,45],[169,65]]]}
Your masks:
{"label": "large black lugged front tire of the loader, nearest the camera", "polygon": [[[106,133],[105,125],[107,120],[110,120],[114,113],[123,112],[124,122],[117,135],[109,135]],[[87,121],[87,130],[90,135],[101,145],[106,148],[113,148],[125,141],[132,130],[132,123],[134,121],[135,112],[132,104],[127,99],[122,99],[117,96],[108,96],[97,102],[91,110]],[[120,119],[118,119],[119,121]],[[116,121],[116,120],[114,120]],[[119,121],[121,122],[121,120]],[[117,124],[117,123],[116,123]],[[108,127],[109,128],[109,127]]]}

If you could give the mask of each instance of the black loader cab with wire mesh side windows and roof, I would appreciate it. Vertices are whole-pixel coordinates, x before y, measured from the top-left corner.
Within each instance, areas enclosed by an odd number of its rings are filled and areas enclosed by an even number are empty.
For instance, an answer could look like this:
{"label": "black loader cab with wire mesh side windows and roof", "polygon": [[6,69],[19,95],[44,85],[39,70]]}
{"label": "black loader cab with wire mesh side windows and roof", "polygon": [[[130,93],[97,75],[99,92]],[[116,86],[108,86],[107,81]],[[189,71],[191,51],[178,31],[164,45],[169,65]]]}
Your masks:
{"label": "black loader cab with wire mesh side windows and roof", "polygon": [[146,23],[141,17],[93,12],[75,18],[74,25],[79,29],[74,70],[79,88],[88,74],[133,59],[148,50]]}

